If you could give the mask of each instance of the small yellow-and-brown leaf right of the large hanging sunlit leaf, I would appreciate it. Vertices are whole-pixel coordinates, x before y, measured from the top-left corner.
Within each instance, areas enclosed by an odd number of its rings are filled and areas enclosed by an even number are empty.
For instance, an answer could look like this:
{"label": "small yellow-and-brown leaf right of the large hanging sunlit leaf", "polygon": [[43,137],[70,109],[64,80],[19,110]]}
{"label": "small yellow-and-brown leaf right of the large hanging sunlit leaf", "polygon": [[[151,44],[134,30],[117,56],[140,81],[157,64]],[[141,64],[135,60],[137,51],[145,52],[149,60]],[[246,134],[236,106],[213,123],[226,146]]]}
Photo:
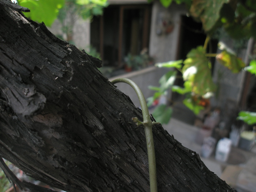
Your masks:
{"label": "small yellow-and-brown leaf right of the large hanging sunlit leaf", "polygon": [[216,59],[233,73],[238,73],[242,70],[242,68],[245,67],[244,62],[240,58],[227,52],[226,50],[223,50],[221,53],[217,54]]}

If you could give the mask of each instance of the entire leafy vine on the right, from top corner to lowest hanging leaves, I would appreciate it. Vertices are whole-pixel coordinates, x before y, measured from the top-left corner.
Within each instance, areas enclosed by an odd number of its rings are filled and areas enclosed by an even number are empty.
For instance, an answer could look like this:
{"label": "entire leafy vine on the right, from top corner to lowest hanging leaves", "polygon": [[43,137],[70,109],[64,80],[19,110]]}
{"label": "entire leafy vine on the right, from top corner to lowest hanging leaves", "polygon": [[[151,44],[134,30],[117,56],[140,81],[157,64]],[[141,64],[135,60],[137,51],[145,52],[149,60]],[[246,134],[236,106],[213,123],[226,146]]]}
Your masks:
{"label": "entire leafy vine on the right, from top corner to lowest hanging leaves", "polygon": [[[251,0],[160,0],[166,8],[173,1],[177,4],[184,3],[186,5],[189,15],[193,19],[202,22],[203,30],[207,37],[204,45],[190,50],[187,54],[187,59],[184,61],[169,61],[156,64],[158,67],[174,67],[178,69],[182,73],[184,86],[174,86],[176,73],[168,72],[160,79],[160,87],[150,87],[156,93],[153,97],[148,98],[148,105],[152,105],[155,99],[163,95],[166,96],[166,87],[168,87],[174,92],[186,94],[183,103],[197,114],[207,103],[202,101],[207,100],[216,91],[216,85],[211,76],[212,64],[210,57],[216,57],[219,63],[233,73],[238,73],[245,67],[245,63],[237,57],[236,53],[231,52],[225,46],[219,47],[222,50],[219,54],[207,53],[210,39],[220,29],[233,39],[248,40],[249,38],[256,38],[256,3]],[[251,67],[248,68],[248,71],[250,69],[253,70],[255,67],[254,62],[251,62]],[[159,110],[160,108],[161,110]],[[169,115],[166,115],[166,112]],[[172,107],[164,104],[159,105],[153,112],[154,117],[161,123],[168,123],[171,114]]]}

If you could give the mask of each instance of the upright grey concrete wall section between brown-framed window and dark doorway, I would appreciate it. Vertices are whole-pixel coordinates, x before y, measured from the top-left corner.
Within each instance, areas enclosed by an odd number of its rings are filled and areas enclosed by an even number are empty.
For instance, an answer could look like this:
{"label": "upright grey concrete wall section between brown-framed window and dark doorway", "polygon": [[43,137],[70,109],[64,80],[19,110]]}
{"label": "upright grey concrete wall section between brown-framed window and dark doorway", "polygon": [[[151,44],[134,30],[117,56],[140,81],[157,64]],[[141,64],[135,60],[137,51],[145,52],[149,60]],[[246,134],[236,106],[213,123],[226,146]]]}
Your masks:
{"label": "upright grey concrete wall section between brown-framed window and dark doorway", "polygon": [[[155,57],[156,62],[176,60],[179,42],[181,15],[186,15],[187,11],[183,5],[172,3],[169,8],[164,8],[158,1],[155,1],[152,8],[151,32],[149,54]],[[170,18],[173,22],[173,31],[169,34],[157,34],[161,26],[159,17]]]}

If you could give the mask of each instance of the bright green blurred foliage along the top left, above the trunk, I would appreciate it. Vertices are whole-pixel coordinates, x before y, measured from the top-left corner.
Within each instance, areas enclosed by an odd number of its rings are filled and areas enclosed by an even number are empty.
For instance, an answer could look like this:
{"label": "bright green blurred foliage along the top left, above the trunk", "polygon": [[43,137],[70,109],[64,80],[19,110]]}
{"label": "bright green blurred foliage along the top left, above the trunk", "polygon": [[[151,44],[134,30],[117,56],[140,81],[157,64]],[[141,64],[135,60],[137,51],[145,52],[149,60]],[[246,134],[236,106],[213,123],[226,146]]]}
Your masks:
{"label": "bright green blurred foliage along the top left, above the trunk", "polygon": [[79,17],[86,20],[92,19],[94,15],[102,15],[103,8],[108,6],[107,0],[17,0],[17,2],[20,6],[31,10],[25,13],[28,18],[39,23],[44,22],[48,27],[59,19],[63,32],[59,38],[72,44],[74,44],[75,21]]}

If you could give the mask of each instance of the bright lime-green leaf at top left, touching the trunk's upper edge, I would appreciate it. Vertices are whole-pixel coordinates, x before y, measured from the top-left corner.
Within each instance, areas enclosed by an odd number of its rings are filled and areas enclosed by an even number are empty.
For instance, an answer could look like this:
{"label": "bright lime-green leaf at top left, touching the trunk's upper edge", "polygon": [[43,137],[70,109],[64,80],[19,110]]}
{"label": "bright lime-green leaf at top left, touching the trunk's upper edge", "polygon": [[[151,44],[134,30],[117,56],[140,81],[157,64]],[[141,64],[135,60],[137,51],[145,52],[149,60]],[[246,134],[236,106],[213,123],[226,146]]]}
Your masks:
{"label": "bright lime-green leaf at top left, touching the trunk's upper edge", "polygon": [[44,22],[51,26],[63,7],[65,0],[18,0],[18,4],[27,7],[30,12],[24,13],[30,19],[37,22]]}

